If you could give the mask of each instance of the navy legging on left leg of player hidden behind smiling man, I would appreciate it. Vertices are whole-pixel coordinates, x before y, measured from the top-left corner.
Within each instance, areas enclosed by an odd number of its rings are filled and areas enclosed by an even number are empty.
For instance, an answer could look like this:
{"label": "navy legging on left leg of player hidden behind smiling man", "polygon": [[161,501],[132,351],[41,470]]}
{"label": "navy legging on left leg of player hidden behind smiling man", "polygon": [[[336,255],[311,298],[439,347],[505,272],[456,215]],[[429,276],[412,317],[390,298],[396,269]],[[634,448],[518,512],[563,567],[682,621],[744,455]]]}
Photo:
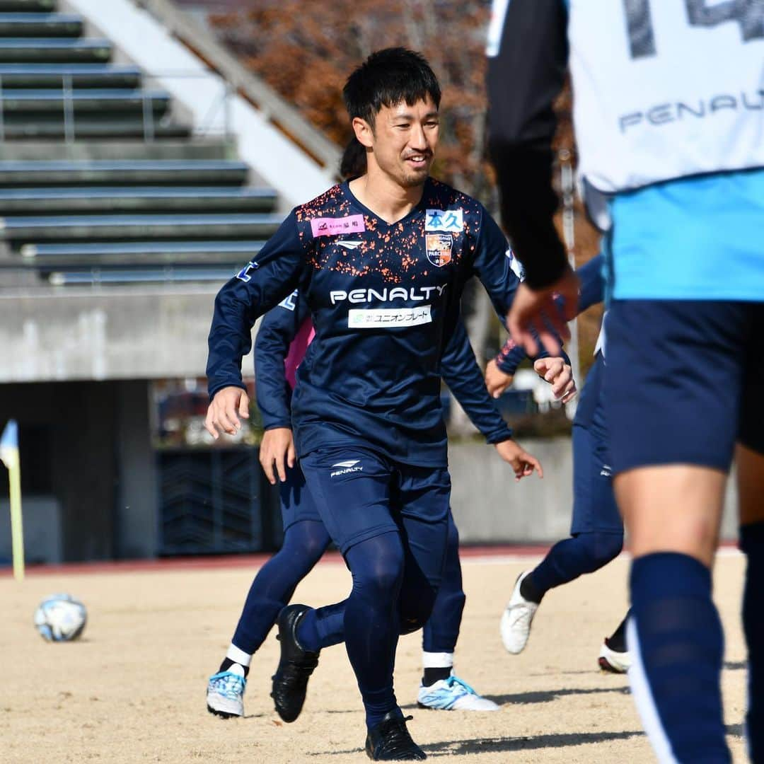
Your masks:
{"label": "navy legging on left leg of player hidden behind smiling man", "polygon": [[329,545],[329,533],[318,520],[302,520],[286,529],[281,549],[252,581],[231,642],[252,655],[261,646],[279,611]]}

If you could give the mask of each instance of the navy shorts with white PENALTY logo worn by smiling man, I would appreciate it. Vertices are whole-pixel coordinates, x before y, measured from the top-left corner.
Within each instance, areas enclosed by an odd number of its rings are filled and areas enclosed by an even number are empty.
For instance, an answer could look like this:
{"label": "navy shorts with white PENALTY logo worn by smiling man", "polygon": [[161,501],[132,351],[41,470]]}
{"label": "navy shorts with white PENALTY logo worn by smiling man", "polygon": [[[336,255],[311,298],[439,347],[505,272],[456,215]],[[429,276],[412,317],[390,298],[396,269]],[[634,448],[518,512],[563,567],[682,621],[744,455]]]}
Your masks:
{"label": "navy shorts with white PENALTY logo worn by smiling man", "polygon": [[[343,555],[354,544],[400,531],[410,547],[432,545],[442,570],[451,497],[447,469],[403,465],[355,445],[317,448],[303,455],[300,465]],[[411,551],[416,557],[429,554],[423,548]]]}

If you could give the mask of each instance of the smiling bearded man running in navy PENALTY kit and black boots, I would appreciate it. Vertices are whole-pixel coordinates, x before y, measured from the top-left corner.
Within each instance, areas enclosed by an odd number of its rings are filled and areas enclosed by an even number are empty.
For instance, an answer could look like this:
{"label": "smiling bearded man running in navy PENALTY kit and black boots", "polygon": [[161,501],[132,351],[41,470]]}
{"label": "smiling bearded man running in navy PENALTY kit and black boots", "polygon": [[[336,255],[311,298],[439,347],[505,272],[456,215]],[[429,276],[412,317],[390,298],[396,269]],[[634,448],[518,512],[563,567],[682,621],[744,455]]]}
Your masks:
{"label": "smiling bearded man running in navy PENALTY kit and black boots", "polygon": [[[465,282],[477,275],[497,312],[518,279],[484,207],[429,177],[440,87],[426,61],[374,53],[343,91],[367,173],[296,207],[257,261],[215,299],[207,377],[210,431],[248,412],[241,358],[258,316],[299,288],[316,339],[297,371],[293,432],[306,484],[353,578],[348,599],[278,619],[277,711],[302,709],[320,649],[344,639],[374,760],[424,759],[393,692],[400,633],[426,622],[448,535],[450,478],[440,359]],[[505,441],[497,444],[502,452]],[[535,465],[512,459],[517,476]]]}

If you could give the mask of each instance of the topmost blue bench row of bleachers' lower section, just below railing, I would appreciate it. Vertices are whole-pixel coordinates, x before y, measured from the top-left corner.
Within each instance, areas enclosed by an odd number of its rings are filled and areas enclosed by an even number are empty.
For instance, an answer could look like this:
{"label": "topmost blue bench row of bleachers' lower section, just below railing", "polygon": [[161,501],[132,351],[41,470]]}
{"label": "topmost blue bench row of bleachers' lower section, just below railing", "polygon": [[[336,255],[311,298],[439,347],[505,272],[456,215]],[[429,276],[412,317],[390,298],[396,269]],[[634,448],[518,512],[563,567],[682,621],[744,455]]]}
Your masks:
{"label": "topmost blue bench row of bleachers' lower section, just below railing", "polygon": [[0,162],[0,187],[241,186],[248,172],[233,160],[10,161]]}

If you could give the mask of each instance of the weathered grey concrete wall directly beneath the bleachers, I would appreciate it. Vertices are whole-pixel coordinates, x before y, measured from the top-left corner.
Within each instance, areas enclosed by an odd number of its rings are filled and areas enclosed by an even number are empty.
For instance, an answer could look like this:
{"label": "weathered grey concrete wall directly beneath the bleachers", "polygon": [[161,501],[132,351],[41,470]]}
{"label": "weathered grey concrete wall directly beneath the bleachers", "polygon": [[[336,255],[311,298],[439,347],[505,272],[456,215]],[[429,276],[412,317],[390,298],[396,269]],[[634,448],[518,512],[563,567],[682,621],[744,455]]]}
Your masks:
{"label": "weathered grey concrete wall directly beneath the bleachers", "polygon": [[204,376],[219,286],[3,290],[0,383]]}

